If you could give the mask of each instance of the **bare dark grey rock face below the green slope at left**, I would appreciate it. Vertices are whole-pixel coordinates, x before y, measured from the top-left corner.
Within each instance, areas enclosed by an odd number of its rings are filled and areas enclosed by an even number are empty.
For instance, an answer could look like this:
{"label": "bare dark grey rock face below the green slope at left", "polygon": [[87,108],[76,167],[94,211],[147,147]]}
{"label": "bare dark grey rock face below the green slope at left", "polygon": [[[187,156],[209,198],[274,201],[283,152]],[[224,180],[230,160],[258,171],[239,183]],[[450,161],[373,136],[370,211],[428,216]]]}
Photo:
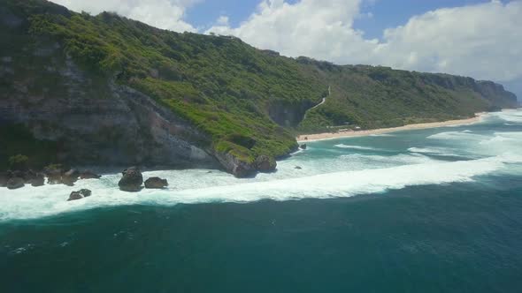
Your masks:
{"label": "bare dark grey rock face below the green slope at left", "polygon": [[60,161],[219,167],[208,136],[150,97],[81,71],[58,43],[2,53],[0,123],[58,141]]}

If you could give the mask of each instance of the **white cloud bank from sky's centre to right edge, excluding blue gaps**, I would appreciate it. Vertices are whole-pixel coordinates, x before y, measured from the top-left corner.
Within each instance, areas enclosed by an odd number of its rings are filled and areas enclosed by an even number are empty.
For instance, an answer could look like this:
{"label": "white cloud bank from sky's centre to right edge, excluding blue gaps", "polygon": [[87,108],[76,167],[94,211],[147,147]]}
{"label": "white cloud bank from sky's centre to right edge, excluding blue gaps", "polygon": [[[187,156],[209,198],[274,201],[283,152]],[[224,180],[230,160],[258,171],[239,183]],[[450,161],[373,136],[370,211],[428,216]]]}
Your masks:
{"label": "white cloud bank from sky's centre to right edge, excluding blue gaps", "polygon": [[365,39],[354,28],[361,5],[361,0],[263,0],[240,26],[218,24],[207,33],[232,34],[260,49],[337,64],[522,79],[522,1],[428,11],[388,28],[381,41]]}

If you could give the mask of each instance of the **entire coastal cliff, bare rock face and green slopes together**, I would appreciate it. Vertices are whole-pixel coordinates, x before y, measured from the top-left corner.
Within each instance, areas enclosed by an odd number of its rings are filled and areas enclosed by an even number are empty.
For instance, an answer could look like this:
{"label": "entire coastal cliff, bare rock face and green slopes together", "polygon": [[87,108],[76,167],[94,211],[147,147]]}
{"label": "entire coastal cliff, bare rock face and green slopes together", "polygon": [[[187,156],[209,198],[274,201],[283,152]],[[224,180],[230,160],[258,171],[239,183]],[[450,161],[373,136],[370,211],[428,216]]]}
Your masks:
{"label": "entire coastal cliff, bare rock face and green slopes together", "polygon": [[293,59],[43,0],[0,1],[0,32],[0,168],[27,153],[38,164],[221,167],[245,177],[258,158],[295,150],[296,131],[516,107],[488,81]]}

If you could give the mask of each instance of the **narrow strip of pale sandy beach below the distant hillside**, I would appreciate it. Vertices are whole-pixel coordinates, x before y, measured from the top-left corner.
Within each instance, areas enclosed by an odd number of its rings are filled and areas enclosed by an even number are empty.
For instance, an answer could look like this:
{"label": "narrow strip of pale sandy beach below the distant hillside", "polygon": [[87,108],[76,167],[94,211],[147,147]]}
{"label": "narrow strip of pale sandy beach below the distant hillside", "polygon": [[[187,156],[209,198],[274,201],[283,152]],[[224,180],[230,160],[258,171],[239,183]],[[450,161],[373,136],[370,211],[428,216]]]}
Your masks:
{"label": "narrow strip of pale sandy beach below the distant hillside", "polygon": [[408,124],[399,127],[391,127],[391,128],[378,128],[366,131],[337,131],[337,132],[323,132],[323,133],[315,133],[315,134],[302,134],[296,137],[297,142],[307,142],[307,141],[317,141],[317,140],[326,140],[326,139],[342,139],[342,138],[350,138],[350,137],[361,137],[368,136],[372,134],[385,134],[389,132],[395,131],[410,131],[417,129],[426,129],[426,128],[437,128],[444,126],[454,126],[460,124],[475,124],[482,121],[482,117],[487,114],[487,112],[475,113],[475,116],[472,118],[466,119],[458,119],[458,120],[447,120],[441,122],[431,122],[431,123],[423,123],[423,124]]}

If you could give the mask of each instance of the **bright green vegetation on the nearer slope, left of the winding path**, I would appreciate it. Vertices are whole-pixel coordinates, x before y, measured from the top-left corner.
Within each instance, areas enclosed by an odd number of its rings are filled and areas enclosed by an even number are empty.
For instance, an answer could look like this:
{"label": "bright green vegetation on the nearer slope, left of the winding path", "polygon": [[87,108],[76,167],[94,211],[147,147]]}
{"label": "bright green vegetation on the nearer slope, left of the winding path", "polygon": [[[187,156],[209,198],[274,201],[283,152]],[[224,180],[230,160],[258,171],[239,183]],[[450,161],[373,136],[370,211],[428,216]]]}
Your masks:
{"label": "bright green vegetation on the nearer slope, left of the winding path", "polygon": [[[270,101],[313,104],[325,90],[294,60],[236,38],[176,34],[106,12],[29,19],[31,34],[59,40],[84,69],[150,95],[211,134],[215,147],[226,145],[249,160],[296,147],[293,134],[268,116]],[[227,140],[231,133],[252,139],[254,146]]]}

